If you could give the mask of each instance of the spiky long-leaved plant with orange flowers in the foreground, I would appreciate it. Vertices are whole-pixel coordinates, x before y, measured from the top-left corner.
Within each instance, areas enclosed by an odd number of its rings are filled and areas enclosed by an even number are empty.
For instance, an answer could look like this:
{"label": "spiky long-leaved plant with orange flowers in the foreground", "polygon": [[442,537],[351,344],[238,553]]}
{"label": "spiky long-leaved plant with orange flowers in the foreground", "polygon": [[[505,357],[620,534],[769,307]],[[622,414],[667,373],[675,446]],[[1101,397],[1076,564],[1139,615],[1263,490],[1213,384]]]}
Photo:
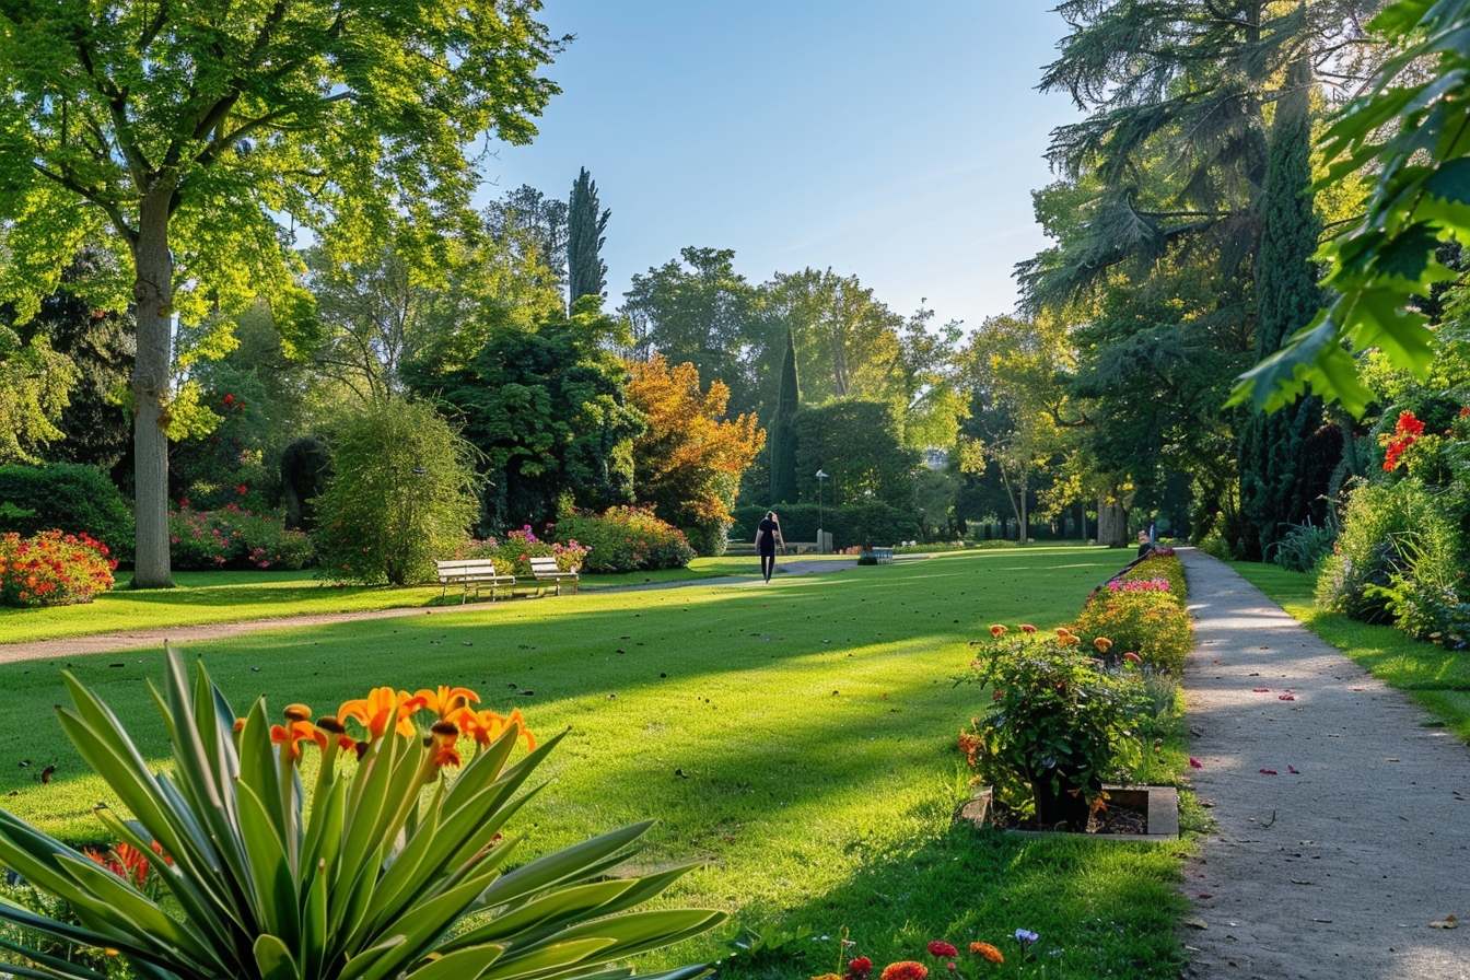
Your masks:
{"label": "spiky long-leaved plant with orange flowers in the foreground", "polygon": [[[343,717],[312,723],[291,705],[275,726],[260,699],[237,721],[203,664],[191,682],[169,651],[165,689],[153,692],[172,745],[168,774],[150,771],[107,705],[65,679],[74,708],[57,710],[62,726],[135,820],[97,815],[141,852],[159,845],[166,895],[153,901],[0,811],[0,864],[65,899],[79,924],[3,899],[0,920],[104,949],[144,980],[613,980],[631,971],[609,964],[725,917],[631,911],[695,867],[609,874],[648,823],[514,867],[519,837],[501,829],[539,789],[519,792],[560,736],[535,746],[519,714],[476,713],[469,691],[379,689],[343,705]],[[415,718],[432,714],[420,733]],[[366,738],[348,736],[350,718]],[[467,764],[462,735],[481,745]],[[512,763],[522,741],[529,751]],[[300,760],[310,743],[322,758],[307,807]],[[13,937],[0,946],[16,954],[0,965],[7,974],[106,980]]]}

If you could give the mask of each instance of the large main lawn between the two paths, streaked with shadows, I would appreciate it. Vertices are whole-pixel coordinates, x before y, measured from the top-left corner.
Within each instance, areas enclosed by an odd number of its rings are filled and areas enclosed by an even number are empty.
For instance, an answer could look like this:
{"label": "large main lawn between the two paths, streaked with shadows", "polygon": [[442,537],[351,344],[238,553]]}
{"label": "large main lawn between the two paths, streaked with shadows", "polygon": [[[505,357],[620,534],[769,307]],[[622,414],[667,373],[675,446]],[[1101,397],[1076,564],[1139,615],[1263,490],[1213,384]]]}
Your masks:
{"label": "large main lawn between the two paths, streaked with shadows", "polygon": [[[237,711],[257,695],[328,713],[369,685],[457,683],[490,707],[519,707],[541,735],[569,727],[553,785],[519,818],[532,851],[656,815],[642,862],[709,862],[669,901],[734,915],[717,934],[641,958],[641,971],[728,955],[747,929],[811,930],[734,971],[794,979],[835,965],[844,927],[879,965],[925,959],[932,939],[1013,954],[1007,937],[1030,929],[1045,976],[1161,979],[1183,955],[1185,845],[1016,837],[951,820],[969,776],[956,733],[982,696],[953,683],[967,641],[997,621],[1069,621],[1119,563],[1080,547],[957,552],[764,586],[589,589],[442,620],[287,627],[190,652]],[[146,689],[160,660],[72,661],[148,758],[163,746]],[[0,792],[53,833],[94,837],[88,813],[107,792],[51,718],[62,667],[0,666]],[[41,785],[49,764],[56,776]]]}

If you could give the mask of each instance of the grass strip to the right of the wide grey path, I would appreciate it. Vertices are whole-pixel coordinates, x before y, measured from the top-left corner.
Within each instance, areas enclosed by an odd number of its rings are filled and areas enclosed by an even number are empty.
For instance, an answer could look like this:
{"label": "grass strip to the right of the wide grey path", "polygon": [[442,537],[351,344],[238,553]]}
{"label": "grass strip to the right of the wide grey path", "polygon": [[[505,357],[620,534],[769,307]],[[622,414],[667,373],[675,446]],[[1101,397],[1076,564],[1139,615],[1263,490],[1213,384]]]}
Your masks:
{"label": "grass strip to the right of the wide grey path", "polygon": [[1313,602],[1311,574],[1250,561],[1233,561],[1230,567],[1374,677],[1407,691],[1436,724],[1470,741],[1470,654],[1413,639],[1392,626],[1323,613]]}

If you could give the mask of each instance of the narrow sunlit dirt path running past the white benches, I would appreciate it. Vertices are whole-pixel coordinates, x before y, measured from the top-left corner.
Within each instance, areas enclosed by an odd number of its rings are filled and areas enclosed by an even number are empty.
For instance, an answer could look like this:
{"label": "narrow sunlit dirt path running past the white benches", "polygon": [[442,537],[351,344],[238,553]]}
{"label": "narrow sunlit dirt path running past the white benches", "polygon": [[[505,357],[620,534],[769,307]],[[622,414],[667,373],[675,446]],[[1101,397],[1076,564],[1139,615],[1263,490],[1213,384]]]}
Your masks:
{"label": "narrow sunlit dirt path running past the white benches", "polygon": [[[779,566],[784,574],[823,574],[851,569],[857,561],[786,561]],[[686,579],[684,582],[653,582],[648,585],[619,585],[597,589],[597,595],[607,592],[634,592],[642,589],[673,589],[691,585],[760,585],[760,576],[726,576],[720,579]],[[589,594],[591,595],[591,594]],[[503,599],[523,601],[523,599]],[[576,597],[563,597],[563,601],[575,602]],[[26,644],[0,644],[0,663],[9,664],[21,660],[51,660],[60,657],[85,657],[87,654],[109,654],[121,649],[138,649],[141,646],[162,646],[169,644],[191,644],[210,639],[240,636],[243,633],[257,633],[266,629],[295,629],[300,626],[326,626],[331,623],[353,623],[359,620],[401,619],[404,616],[457,616],[460,613],[484,611],[485,602],[466,605],[435,605],[432,608],[412,607],[395,610],[370,610],[363,613],[320,613],[290,616],[263,620],[245,620],[240,623],[201,623],[198,626],[169,626],[160,629],[138,629],[126,633],[98,633],[96,636],[74,636],[66,639],[40,639]]]}

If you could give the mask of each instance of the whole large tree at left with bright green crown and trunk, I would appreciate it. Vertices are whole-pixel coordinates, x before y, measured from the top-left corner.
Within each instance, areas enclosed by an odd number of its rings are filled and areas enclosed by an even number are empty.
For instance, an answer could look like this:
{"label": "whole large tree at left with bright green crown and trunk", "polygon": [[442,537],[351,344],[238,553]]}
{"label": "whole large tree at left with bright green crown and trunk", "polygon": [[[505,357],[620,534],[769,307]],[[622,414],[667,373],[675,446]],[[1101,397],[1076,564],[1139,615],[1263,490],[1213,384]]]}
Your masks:
{"label": "whole large tree at left with bright green crown and trunk", "polygon": [[[173,316],[272,297],[309,320],[293,231],[340,257],[390,229],[469,215],[465,150],[526,143],[560,50],[538,0],[0,0],[3,300],[22,316],[85,241],[107,241],[135,306],[134,586],[172,585]],[[400,242],[431,264],[437,237]],[[359,254],[360,257],[360,254]],[[291,309],[285,309],[291,307]]]}

